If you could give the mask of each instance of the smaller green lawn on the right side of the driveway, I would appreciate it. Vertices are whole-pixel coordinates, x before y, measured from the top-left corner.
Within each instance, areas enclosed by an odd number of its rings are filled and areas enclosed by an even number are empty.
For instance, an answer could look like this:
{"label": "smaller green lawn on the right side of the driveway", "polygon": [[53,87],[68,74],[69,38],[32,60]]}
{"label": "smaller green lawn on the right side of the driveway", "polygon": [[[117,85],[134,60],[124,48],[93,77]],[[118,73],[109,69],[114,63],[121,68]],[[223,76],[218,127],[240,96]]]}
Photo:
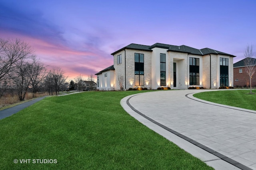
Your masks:
{"label": "smaller green lawn on the right side of the driveway", "polygon": [[256,90],[252,90],[254,94],[249,93],[250,90],[220,90],[196,93],[193,96],[209,102],[256,110]]}

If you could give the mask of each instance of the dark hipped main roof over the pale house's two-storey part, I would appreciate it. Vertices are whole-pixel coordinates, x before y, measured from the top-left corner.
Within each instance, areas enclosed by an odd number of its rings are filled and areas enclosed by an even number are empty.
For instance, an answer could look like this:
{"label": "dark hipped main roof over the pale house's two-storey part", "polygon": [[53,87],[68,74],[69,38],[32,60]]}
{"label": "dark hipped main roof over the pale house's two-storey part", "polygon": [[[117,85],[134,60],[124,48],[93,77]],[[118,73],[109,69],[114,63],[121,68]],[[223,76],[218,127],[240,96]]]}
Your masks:
{"label": "dark hipped main roof over the pale house's two-storey part", "polygon": [[204,48],[204,49],[195,49],[192,47],[188,47],[186,45],[176,46],[176,45],[168,45],[168,44],[162,44],[162,43],[155,43],[154,45],[148,46],[148,45],[140,45],[140,44],[130,44],[126,47],[123,47],[122,49],[112,53],[111,55],[114,55],[116,53],[119,53],[120,51],[124,49],[136,49],[136,50],[143,50],[143,51],[152,51],[153,48],[163,48],[167,49],[167,51],[176,51],[180,53],[188,53],[188,54],[195,54],[195,55],[209,55],[209,54],[221,54],[221,55],[228,55],[230,57],[236,57],[234,55],[230,55],[228,53],[223,53],[217,50]]}

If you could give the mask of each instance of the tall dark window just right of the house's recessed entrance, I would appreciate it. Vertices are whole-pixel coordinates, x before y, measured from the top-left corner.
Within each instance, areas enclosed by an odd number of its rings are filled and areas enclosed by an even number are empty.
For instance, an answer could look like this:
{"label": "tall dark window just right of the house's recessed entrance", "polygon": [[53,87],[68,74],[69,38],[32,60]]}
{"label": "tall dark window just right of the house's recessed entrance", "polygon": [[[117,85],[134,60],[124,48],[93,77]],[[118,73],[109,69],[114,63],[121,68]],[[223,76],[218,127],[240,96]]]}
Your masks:
{"label": "tall dark window just right of the house's recessed entrance", "polygon": [[189,57],[189,85],[199,85],[199,59]]}

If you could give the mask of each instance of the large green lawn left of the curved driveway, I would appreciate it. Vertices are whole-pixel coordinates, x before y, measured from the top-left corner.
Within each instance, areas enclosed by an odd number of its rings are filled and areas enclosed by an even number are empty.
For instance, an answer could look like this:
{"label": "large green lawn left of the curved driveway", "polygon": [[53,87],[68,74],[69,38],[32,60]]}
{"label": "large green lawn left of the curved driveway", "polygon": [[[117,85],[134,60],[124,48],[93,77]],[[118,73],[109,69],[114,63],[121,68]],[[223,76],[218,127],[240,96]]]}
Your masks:
{"label": "large green lawn left of the curved driveway", "polygon": [[50,97],[0,120],[0,169],[213,169],[126,113],[120,100],[135,93]]}

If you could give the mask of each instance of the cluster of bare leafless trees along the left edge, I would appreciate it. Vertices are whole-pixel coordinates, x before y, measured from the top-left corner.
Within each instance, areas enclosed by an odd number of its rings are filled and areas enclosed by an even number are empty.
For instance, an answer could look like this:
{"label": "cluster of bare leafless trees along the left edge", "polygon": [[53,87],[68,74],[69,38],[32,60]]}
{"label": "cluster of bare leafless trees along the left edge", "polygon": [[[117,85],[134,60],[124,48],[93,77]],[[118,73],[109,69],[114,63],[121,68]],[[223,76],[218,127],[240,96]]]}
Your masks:
{"label": "cluster of bare leafless trees along the left edge", "polygon": [[61,68],[47,70],[44,63],[36,57],[28,43],[20,39],[0,38],[0,98],[7,90],[15,90],[23,101],[30,90],[56,95],[66,90],[68,84]]}

